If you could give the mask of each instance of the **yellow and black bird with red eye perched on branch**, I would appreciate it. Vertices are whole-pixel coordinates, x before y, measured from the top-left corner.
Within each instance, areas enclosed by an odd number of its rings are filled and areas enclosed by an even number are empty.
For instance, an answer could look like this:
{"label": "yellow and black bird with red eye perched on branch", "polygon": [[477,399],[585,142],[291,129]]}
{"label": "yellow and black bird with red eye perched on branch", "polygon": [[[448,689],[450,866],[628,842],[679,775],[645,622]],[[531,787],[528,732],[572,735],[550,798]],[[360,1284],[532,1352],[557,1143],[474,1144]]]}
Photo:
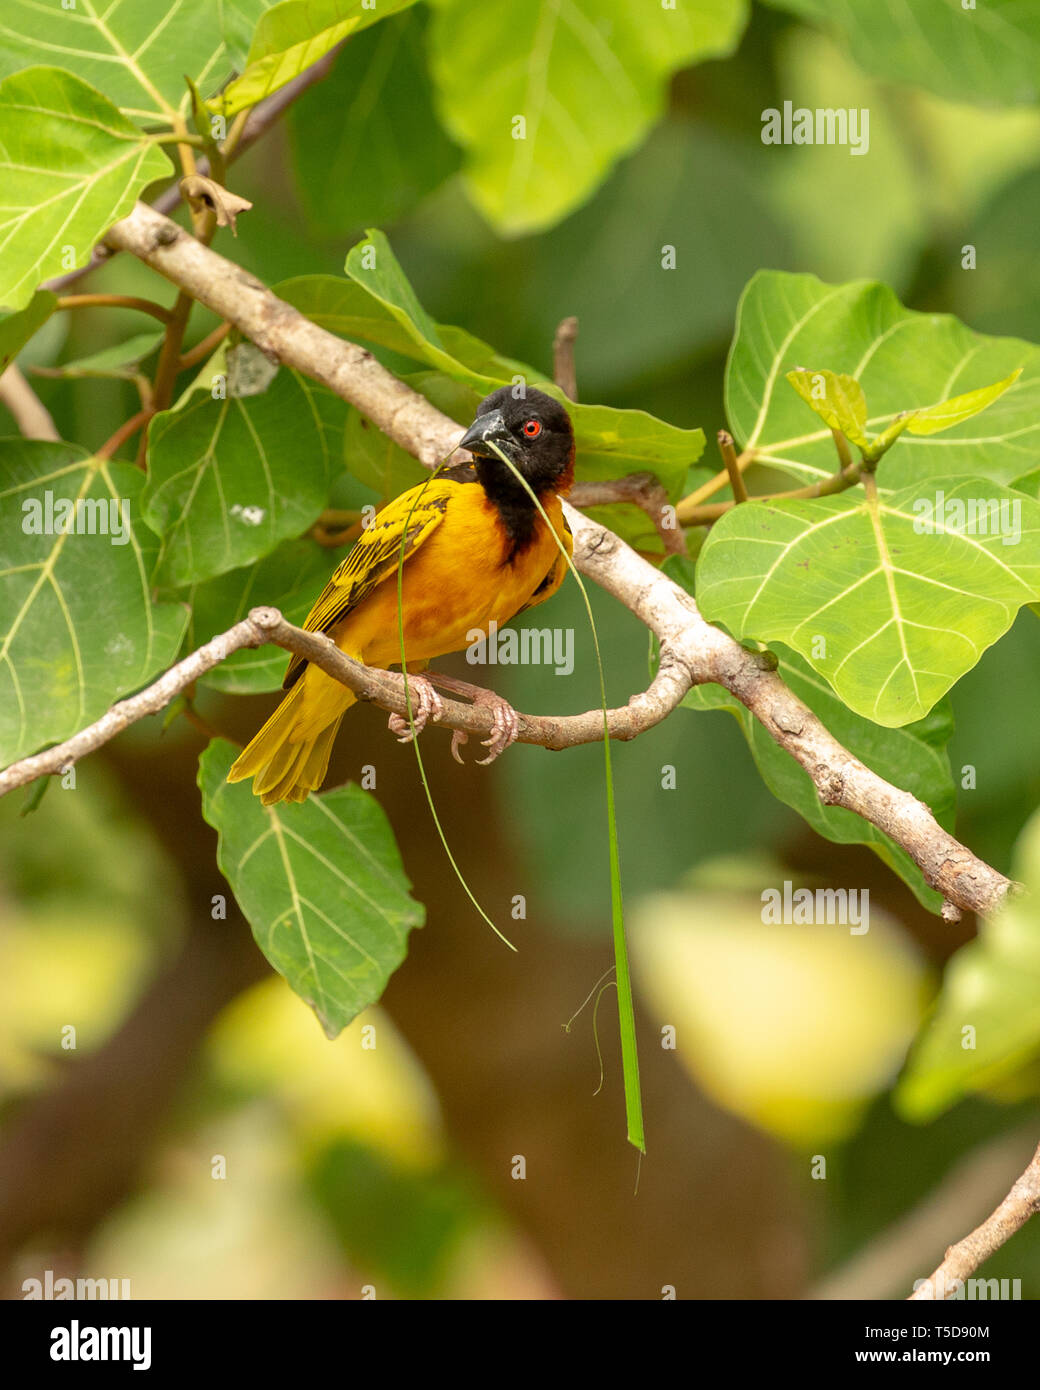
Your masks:
{"label": "yellow and black bird with red eye perched on branch", "polygon": [[[567,411],[552,396],[513,388],[495,391],[459,441],[474,456],[427,484],[410,488],[375,514],[325,585],[303,624],[328,632],[336,646],[367,666],[400,664],[398,564],[402,570],[405,663],[416,733],[442,713],[432,680],[494,710],[485,746],[491,762],[517,734],[514,710],[498,695],[444,676],[417,676],[437,656],[457,652],[548,599],[563,581],[571,553],[560,495],[574,480],[574,434]],[[494,448],[492,448],[494,446]],[[538,498],[551,527],[527,489],[495,453],[514,464]],[[555,532],[555,535],[553,535]],[[304,801],[324,781],[339,721],[357,696],[302,656],[293,656],[282,688],[288,695],[236,759],[228,781],[253,778],[266,806]],[[402,742],[412,726],[392,714],[389,728]],[[456,731],[452,753],[466,734]]]}

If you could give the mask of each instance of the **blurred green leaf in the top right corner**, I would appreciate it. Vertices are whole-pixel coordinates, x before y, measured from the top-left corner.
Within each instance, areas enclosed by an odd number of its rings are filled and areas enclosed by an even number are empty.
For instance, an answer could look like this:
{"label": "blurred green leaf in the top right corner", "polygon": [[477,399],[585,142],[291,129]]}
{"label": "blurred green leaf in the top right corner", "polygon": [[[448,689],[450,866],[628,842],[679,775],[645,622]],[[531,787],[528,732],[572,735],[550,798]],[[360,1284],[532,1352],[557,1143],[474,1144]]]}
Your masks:
{"label": "blurred green leaf in the top right corner", "polygon": [[951,101],[1011,106],[1040,97],[1037,0],[766,0],[837,29],[868,72]]}

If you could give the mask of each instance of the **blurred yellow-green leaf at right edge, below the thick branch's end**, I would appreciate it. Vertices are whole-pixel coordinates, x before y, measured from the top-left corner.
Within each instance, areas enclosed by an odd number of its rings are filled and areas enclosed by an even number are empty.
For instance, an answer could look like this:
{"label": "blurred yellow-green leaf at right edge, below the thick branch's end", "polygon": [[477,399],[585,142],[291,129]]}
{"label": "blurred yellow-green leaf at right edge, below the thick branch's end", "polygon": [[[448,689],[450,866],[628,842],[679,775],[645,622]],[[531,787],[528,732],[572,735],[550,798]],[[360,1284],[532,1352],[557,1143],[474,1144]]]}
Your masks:
{"label": "blurred yellow-green leaf at right edge, below the thick branch's end", "polygon": [[1026,894],[986,917],[947,965],[895,1091],[907,1119],[930,1120],[1040,1052],[1040,815],[1022,831],[1012,877]]}

